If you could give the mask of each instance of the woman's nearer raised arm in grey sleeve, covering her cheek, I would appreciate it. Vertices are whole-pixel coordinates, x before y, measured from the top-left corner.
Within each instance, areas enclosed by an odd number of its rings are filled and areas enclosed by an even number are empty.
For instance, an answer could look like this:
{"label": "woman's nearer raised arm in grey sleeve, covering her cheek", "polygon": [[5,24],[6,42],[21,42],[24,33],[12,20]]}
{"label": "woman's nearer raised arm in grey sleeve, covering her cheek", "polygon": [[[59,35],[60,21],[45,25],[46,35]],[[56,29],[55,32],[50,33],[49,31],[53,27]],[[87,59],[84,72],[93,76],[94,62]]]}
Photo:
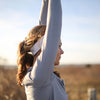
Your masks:
{"label": "woman's nearer raised arm in grey sleeve, covering her cheek", "polygon": [[62,26],[62,9],[60,0],[49,0],[47,27],[43,40],[42,52],[36,60],[31,77],[36,86],[43,85],[53,73]]}

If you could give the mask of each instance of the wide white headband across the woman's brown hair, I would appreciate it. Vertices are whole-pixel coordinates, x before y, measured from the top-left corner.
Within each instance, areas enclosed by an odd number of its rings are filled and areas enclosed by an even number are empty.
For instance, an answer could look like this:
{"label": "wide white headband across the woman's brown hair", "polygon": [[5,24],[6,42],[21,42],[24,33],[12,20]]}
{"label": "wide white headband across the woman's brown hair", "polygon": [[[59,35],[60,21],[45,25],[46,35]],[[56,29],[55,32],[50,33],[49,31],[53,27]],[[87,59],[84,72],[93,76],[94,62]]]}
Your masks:
{"label": "wide white headband across the woman's brown hair", "polygon": [[42,47],[42,42],[43,42],[43,38],[44,38],[44,36],[42,36],[42,37],[40,38],[40,40],[38,40],[38,41],[33,45],[33,47],[31,48],[32,54],[35,55],[35,54],[41,49],[41,47]]}

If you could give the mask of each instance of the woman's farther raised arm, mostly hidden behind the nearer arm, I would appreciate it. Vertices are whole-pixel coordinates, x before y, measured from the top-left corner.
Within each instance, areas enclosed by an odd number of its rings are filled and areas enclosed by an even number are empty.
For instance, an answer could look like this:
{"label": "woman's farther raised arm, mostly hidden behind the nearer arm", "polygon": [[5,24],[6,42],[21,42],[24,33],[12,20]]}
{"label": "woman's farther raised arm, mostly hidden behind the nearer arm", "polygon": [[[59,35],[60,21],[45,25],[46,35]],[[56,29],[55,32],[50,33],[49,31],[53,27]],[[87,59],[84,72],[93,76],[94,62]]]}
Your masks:
{"label": "woman's farther raised arm, mostly hidden behind the nearer arm", "polygon": [[39,17],[39,25],[46,25],[47,22],[48,0],[42,0],[42,7]]}

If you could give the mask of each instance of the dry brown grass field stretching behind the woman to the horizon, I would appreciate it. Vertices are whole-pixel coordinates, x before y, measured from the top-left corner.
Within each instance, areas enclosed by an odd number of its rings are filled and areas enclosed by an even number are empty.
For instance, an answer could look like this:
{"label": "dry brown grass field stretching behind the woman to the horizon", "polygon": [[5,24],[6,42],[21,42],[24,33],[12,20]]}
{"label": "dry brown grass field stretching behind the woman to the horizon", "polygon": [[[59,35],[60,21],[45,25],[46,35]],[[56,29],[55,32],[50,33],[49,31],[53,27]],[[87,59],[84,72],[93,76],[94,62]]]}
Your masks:
{"label": "dry brown grass field stretching behind the woman to the horizon", "polygon": [[[0,66],[0,100],[26,100],[24,88],[16,84],[16,68]],[[68,100],[88,100],[88,88],[96,88],[100,100],[100,65],[56,67],[65,80]]]}

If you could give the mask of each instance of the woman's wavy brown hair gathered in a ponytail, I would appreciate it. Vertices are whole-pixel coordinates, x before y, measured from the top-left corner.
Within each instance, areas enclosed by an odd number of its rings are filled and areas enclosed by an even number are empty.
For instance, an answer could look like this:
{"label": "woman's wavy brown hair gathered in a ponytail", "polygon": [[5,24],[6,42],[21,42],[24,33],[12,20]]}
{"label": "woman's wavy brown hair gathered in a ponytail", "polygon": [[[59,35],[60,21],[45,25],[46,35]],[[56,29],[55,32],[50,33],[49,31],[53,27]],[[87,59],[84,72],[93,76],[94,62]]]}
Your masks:
{"label": "woman's wavy brown hair gathered in a ponytail", "polygon": [[45,34],[45,25],[39,25],[34,27],[25,38],[24,41],[20,42],[18,51],[17,51],[17,64],[18,64],[18,73],[17,81],[21,85],[22,80],[27,72],[27,69],[33,65],[35,58],[39,55],[39,51],[35,54],[32,54],[31,48],[39,41]]}

